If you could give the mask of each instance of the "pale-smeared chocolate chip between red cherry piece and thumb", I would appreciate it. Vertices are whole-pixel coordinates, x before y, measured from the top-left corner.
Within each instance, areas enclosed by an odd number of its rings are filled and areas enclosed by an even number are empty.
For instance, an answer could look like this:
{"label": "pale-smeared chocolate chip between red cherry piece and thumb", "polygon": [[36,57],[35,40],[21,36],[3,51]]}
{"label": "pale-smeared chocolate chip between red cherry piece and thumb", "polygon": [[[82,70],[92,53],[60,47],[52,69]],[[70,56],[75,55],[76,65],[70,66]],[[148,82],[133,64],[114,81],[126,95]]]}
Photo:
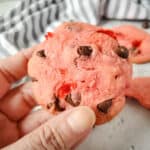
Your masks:
{"label": "pale-smeared chocolate chip between red cherry piece and thumb", "polygon": [[65,97],[65,101],[68,102],[70,105],[72,106],[78,106],[81,102],[81,95],[77,95],[76,96],[76,99],[73,99],[72,98],[72,95],[71,94],[68,94],[66,97]]}

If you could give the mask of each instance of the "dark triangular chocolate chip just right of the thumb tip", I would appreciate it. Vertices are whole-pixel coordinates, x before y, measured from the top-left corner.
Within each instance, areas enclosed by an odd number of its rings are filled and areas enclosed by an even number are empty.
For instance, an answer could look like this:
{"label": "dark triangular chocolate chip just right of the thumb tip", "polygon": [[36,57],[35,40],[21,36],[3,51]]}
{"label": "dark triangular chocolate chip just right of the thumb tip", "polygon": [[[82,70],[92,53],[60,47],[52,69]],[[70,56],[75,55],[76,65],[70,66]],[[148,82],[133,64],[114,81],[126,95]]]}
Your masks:
{"label": "dark triangular chocolate chip just right of the thumb tip", "polygon": [[108,112],[109,108],[111,107],[111,105],[112,105],[112,99],[109,99],[109,100],[106,100],[106,101],[104,101],[102,103],[99,103],[97,105],[97,109],[100,112],[106,114]]}

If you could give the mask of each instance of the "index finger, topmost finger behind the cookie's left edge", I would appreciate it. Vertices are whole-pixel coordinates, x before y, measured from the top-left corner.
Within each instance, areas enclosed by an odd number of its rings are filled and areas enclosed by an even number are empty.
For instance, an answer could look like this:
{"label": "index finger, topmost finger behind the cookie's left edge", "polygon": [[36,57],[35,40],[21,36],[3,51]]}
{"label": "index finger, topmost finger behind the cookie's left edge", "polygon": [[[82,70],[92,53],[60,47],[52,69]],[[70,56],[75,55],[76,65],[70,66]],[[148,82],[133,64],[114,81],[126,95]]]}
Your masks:
{"label": "index finger, topmost finger behind the cookie's left edge", "polygon": [[32,52],[41,49],[43,44],[44,42],[0,60],[0,98],[8,91],[13,82],[27,74],[27,64]]}

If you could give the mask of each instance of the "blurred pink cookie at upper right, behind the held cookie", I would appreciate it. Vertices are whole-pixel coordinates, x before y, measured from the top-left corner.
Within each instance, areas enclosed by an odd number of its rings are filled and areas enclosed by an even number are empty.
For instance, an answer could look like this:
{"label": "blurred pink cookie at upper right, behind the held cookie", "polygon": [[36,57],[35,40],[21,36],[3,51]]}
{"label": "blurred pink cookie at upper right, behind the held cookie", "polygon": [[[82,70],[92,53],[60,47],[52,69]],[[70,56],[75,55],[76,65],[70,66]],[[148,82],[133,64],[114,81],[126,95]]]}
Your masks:
{"label": "blurred pink cookie at upper right, behind the held cookie", "polygon": [[120,45],[130,51],[133,63],[150,62],[150,34],[131,25],[121,25],[113,29]]}

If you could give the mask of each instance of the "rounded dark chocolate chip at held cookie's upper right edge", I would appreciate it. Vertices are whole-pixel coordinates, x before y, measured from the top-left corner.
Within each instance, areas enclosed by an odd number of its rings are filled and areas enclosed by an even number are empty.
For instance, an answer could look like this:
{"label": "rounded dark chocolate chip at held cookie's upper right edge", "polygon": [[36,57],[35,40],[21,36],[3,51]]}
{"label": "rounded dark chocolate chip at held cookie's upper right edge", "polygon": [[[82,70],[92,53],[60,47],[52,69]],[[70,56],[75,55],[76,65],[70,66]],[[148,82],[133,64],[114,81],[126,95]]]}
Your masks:
{"label": "rounded dark chocolate chip at held cookie's upper right edge", "polygon": [[128,56],[129,56],[129,51],[124,46],[118,46],[118,48],[115,52],[119,57],[124,58],[124,59],[128,58]]}

